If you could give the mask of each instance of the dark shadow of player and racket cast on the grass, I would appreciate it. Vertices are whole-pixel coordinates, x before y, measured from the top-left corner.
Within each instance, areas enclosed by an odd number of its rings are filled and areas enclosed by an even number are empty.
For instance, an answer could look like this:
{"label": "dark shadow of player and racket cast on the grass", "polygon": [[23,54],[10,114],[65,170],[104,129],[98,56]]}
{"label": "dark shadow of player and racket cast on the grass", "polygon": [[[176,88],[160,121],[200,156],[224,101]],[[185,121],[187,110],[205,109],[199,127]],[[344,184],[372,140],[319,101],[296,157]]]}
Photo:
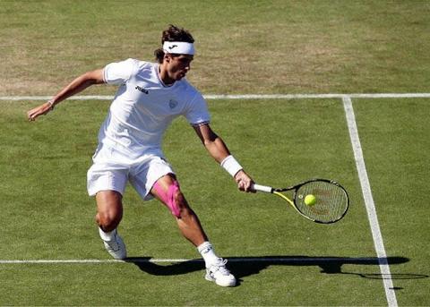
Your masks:
{"label": "dark shadow of player and racket cast on the grass", "polygon": [[[125,260],[135,264],[142,271],[155,276],[182,275],[204,269],[204,262],[199,260],[186,260],[171,264],[159,264],[158,260],[148,258],[127,258]],[[228,258],[228,269],[240,281],[243,277],[260,273],[263,269],[271,266],[315,266],[321,269],[323,274],[349,274],[357,277],[371,279],[417,279],[427,278],[422,274],[391,274],[391,277],[383,276],[381,273],[360,273],[342,271],[342,266],[352,264],[357,266],[372,266],[375,271],[379,271],[381,264],[398,265],[409,262],[405,257],[306,257],[306,256],[264,256],[264,257],[231,257]]]}

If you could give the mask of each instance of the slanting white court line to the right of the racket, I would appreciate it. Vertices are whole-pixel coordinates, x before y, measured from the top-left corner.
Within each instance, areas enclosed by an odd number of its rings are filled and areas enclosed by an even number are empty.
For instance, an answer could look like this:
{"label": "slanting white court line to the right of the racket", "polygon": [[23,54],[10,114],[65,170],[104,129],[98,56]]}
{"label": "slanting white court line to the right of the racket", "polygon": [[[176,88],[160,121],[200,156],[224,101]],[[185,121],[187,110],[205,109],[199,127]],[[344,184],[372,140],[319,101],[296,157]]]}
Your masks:
{"label": "slanting white court line to the right of the racket", "polygon": [[379,267],[383,276],[383,286],[385,288],[385,295],[387,297],[389,306],[397,306],[396,293],[392,285],[390,266],[388,265],[387,254],[383,246],[383,235],[381,234],[381,228],[379,226],[378,217],[376,215],[376,209],[374,207],[374,198],[370,189],[369,178],[367,176],[365,158],[363,156],[363,149],[361,148],[360,139],[358,137],[358,129],[356,123],[356,115],[354,115],[354,108],[352,107],[352,101],[349,97],[342,98],[343,107],[345,108],[345,114],[347,116],[349,137],[351,139],[352,149],[354,151],[354,157],[356,159],[358,177],[360,179],[361,190],[365,199],[367,217],[369,218],[370,228],[372,230],[372,236],[374,237],[374,248],[379,260]]}

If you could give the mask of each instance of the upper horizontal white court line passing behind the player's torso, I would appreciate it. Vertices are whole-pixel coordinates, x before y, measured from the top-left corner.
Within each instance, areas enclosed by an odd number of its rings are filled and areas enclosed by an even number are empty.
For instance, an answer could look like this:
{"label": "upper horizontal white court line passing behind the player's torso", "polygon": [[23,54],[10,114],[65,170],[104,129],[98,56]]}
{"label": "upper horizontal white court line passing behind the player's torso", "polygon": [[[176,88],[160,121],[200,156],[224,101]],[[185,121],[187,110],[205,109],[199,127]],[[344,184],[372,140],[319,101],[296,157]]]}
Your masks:
{"label": "upper horizontal white court line passing behind the player's torso", "polygon": [[[250,95],[203,95],[206,99],[302,99],[302,98],[430,98],[430,93],[363,93],[363,94],[250,94]],[[48,100],[51,96],[0,96],[0,100]],[[112,100],[114,96],[73,96],[68,100]]]}

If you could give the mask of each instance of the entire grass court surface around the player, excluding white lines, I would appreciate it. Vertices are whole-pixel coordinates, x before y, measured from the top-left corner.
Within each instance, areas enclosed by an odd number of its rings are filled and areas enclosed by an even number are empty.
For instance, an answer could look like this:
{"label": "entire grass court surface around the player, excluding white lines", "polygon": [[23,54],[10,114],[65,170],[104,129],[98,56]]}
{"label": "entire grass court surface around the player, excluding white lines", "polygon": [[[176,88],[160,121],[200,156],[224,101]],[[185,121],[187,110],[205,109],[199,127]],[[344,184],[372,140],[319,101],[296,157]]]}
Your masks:
{"label": "entire grass court surface around the player, excluding white lines", "polygon": [[[429,11],[424,1],[2,1],[0,96],[53,95],[109,62],[150,60],[168,23],[192,30],[189,79],[204,94],[429,92]],[[0,102],[0,259],[108,260],[86,172],[109,102],[70,100],[27,122],[38,104]],[[428,98],[353,104],[398,302],[429,305]],[[0,264],[0,305],[386,305],[340,99],[209,106],[256,181],[336,179],[347,217],[315,225],[270,195],[237,192],[181,119],[165,152],[239,286],[206,282],[200,262]],[[168,210],[131,187],[120,232],[132,257],[199,258]],[[284,261],[235,261],[267,257]],[[321,260],[293,260],[307,257]]]}

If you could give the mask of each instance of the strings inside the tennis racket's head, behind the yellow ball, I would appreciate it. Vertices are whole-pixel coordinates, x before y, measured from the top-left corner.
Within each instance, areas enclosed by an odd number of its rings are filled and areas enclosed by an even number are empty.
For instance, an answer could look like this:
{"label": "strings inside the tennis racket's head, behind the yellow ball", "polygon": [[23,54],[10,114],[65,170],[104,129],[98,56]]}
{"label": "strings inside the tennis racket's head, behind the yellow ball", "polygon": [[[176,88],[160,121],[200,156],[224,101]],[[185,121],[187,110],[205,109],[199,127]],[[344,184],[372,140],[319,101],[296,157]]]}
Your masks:
{"label": "strings inside the tennis racket's head, behind the yellow ball", "polygon": [[[305,196],[316,198],[314,205],[305,204]],[[295,194],[297,209],[306,217],[323,223],[330,223],[343,217],[348,209],[348,195],[337,184],[314,181],[305,183]]]}

